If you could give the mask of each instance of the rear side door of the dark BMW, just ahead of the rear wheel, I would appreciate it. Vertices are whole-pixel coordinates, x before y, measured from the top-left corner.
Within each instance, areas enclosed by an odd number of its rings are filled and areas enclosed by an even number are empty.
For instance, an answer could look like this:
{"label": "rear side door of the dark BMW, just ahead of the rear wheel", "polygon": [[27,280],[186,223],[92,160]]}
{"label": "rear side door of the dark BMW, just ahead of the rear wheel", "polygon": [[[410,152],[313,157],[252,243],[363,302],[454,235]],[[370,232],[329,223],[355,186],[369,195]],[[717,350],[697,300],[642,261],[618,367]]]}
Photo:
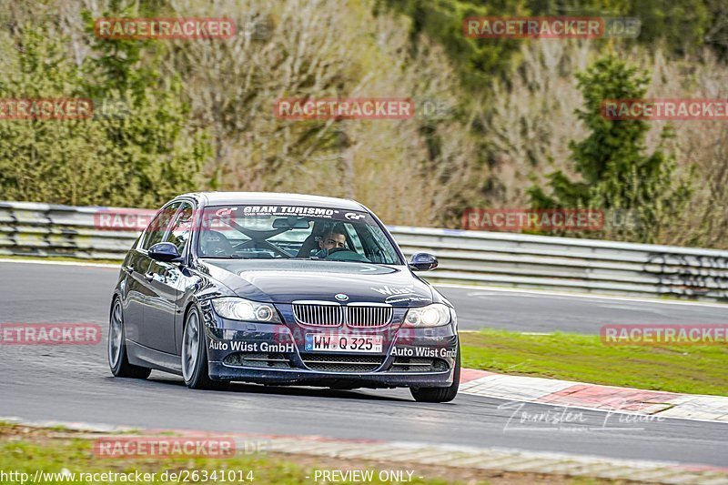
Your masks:
{"label": "rear side door of the dark BMW, just ahead of the rear wheel", "polygon": [[[133,264],[129,265],[131,268],[125,268],[130,276],[129,305],[125,314],[126,328],[132,328],[132,331],[136,334],[135,341],[145,347],[150,347],[150,331],[147,321],[149,312],[147,308],[153,303],[155,296],[151,287],[153,279],[150,272],[152,259],[147,255],[147,251],[164,240],[180,205],[181,202],[173,202],[162,207],[157,213],[157,217],[149,223],[144,234],[139,238],[139,244],[134,250],[133,257],[130,258],[130,262],[133,262]],[[134,287],[133,292],[132,286]]]}

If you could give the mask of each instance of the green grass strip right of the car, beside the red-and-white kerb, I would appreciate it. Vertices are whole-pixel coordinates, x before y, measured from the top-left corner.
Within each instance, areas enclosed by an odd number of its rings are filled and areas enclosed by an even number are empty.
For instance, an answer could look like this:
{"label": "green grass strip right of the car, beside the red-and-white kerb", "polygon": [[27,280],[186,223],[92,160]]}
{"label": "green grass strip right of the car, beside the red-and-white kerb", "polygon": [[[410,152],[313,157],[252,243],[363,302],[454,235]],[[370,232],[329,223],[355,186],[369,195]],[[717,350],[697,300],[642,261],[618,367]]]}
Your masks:
{"label": "green grass strip right of the car, beside the red-and-white kerb", "polygon": [[460,334],[463,367],[638,389],[728,396],[728,347],[605,346],[598,335]]}

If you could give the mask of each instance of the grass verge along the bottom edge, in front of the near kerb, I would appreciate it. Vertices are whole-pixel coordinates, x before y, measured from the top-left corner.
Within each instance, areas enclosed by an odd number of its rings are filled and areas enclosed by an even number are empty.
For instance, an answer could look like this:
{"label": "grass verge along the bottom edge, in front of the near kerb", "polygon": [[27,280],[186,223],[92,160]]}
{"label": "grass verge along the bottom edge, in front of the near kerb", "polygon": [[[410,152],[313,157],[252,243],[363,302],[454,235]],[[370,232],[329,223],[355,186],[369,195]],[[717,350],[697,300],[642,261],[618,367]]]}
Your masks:
{"label": "grass verge along the bottom edge, in front of the near kerb", "polygon": [[[76,436],[75,436],[76,435]],[[312,457],[303,454],[255,453],[240,454],[226,459],[203,458],[144,458],[117,459],[99,458],[94,454],[94,439],[105,435],[81,437],[73,431],[59,429],[37,429],[0,422],[0,473],[14,472],[0,482],[8,483],[331,483],[329,480],[315,480],[315,470],[372,470],[373,480],[365,483],[402,483],[402,481],[379,480],[380,470],[411,470],[411,484],[436,485],[446,483],[534,483],[534,484],[587,484],[624,483],[623,481],[569,478],[560,475],[538,473],[503,472],[499,470],[454,469],[448,467],[408,465],[349,459]],[[36,470],[43,473],[40,481],[33,481]],[[167,471],[167,475],[164,472]],[[197,473],[193,473],[197,471]],[[206,473],[207,471],[207,473]],[[213,472],[217,475],[213,480]],[[125,473],[129,479],[120,476],[104,478],[102,473]],[[140,475],[135,476],[136,473]],[[155,473],[154,477],[139,477]],[[171,473],[182,475],[182,480],[168,480]],[[225,474],[234,473],[235,480]],[[25,476],[22,474],[26,474]],[[90,474],[90,477],[86,477]],[[405,473],[405,476],[406,473]],[[25,477],[25,481],[24,480]],[[65,478],[62,478],[65,477]],[[92,480],[87,480],[88,478]],[[133,480],[132,480],[133,478]],[[204,480],[207,478],[207,480]],[[73,479],[73,480],[72,480]],[[153,480],[147,480],[153,479]],[[165,480],[167,479],[167,480]],[[6,481],[9,480],[9,481]],[[335,480],[336,483],[354,481]],[[362,482],[359,480],[358,482]]]}

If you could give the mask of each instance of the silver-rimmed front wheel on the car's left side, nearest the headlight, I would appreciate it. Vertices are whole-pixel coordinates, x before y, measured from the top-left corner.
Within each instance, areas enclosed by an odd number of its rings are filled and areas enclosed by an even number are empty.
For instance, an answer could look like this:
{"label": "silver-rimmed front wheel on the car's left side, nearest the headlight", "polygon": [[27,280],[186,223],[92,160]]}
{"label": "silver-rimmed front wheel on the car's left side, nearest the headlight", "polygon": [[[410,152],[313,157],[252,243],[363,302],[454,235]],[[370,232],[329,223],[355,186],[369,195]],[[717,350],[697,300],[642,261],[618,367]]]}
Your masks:
{"label": "silver-rimmed front wheel on the car's left side, nearest the headlight", "polygon": [[207,338],[199,310],[192,307],[182,334],[182,377],[189,389],[226,389],[229,382],[213,380],[207,366]]}

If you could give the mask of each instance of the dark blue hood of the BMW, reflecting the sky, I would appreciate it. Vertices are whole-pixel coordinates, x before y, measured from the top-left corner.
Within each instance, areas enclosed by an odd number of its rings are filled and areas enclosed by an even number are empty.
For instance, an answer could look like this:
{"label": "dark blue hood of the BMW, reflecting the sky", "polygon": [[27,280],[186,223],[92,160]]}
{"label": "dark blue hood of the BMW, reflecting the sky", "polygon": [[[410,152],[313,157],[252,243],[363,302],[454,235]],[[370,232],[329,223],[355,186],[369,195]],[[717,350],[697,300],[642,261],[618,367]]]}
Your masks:
{"label": "dark blue hood of the BMW, reflecting the sky", "polygon": [[430,285],[401,266],[285,259],[205,259],[201,265],[239,297],[271,303],[315,299],[422,307],[433,298]]}

